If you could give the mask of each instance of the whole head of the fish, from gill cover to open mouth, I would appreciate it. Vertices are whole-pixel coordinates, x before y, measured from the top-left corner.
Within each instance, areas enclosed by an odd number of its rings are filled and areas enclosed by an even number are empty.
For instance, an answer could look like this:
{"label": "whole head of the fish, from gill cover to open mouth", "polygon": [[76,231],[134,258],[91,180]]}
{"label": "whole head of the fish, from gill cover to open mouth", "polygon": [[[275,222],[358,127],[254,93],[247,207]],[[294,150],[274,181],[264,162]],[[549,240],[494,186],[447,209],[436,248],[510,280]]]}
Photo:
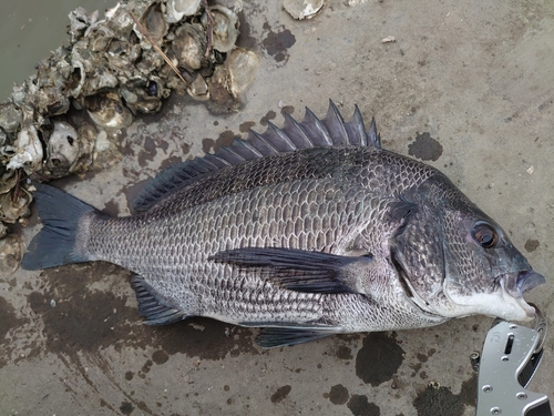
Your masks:
{"label": "whole head of the fish, from gill cover to open mouth", "polygon": [[445,185],[452,186],[448,197],[410,215],[392,245],[407,293],[423,311],[441,316],[533,319],[535,310],[523,294],[545,278],[494,220],[450,181]]}

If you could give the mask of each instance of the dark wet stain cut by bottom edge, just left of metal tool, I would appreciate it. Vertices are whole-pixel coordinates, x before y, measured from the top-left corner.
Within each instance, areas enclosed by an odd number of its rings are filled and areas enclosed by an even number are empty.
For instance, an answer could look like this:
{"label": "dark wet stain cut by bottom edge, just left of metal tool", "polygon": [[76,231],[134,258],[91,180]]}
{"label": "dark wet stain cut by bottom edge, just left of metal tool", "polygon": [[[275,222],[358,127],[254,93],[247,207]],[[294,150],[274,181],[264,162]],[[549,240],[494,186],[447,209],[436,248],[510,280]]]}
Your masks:
{"label": "dark wet stain cut by bottom edge, just left of metal tool", "polygon": [[452,394],[449,387],[430,383],[428,387],[416,397],[413,407],[418,416],[449,415],[462,416],[464,403],[460,395]]}

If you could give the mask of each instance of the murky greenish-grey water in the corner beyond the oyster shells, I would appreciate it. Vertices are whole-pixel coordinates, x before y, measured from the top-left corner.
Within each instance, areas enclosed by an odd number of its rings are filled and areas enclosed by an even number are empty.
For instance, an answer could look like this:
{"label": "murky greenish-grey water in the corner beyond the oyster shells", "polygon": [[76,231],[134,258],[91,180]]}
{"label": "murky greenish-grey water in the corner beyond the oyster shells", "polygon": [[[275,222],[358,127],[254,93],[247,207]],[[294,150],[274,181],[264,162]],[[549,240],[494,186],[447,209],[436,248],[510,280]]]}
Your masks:
{"label": "murky greenish-grey water in the corner beyond the oyster shells", "polygon": [[13,83],[35,72],[34,64],[50,51],[68,44],[68,14],[78,7],[86,11],[104,11],[116,0],[0,0],[0,102],[11,94]]}

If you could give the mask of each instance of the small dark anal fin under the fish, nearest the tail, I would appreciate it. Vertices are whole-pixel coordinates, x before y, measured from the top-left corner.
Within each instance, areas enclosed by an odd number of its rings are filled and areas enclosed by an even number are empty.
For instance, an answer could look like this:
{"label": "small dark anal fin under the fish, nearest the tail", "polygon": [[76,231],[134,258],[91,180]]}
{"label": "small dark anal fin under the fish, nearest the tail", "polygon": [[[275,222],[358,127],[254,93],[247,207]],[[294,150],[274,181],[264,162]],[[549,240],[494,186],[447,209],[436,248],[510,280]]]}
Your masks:
{"label": "small dark anal fin under the fish, nearest the tail", "polygon": [[144,277],[135,274],[131,277],[131,286],[136,294],[138,302],[138,313],[144,316],[146,325],[167,325],[182,321],[186,317],[182,310],[170,307],[163,304],[161,296],[154,287],[147,284]]}

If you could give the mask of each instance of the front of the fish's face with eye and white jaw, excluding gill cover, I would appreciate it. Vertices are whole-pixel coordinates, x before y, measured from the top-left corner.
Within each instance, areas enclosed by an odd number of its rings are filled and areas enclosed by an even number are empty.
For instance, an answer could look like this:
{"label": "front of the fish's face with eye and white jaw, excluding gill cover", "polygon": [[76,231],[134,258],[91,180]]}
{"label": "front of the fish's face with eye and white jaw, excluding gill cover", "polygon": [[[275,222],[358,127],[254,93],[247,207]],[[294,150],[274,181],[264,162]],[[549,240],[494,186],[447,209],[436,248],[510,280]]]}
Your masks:
{"label": "front of the fish's face with eye and white jaw, excluding gill cover", "polygon": [[531,321],[523,294],[545,278],[534,272],[502,227],[478,207],[444,213],[443,293],[456,314]]}

